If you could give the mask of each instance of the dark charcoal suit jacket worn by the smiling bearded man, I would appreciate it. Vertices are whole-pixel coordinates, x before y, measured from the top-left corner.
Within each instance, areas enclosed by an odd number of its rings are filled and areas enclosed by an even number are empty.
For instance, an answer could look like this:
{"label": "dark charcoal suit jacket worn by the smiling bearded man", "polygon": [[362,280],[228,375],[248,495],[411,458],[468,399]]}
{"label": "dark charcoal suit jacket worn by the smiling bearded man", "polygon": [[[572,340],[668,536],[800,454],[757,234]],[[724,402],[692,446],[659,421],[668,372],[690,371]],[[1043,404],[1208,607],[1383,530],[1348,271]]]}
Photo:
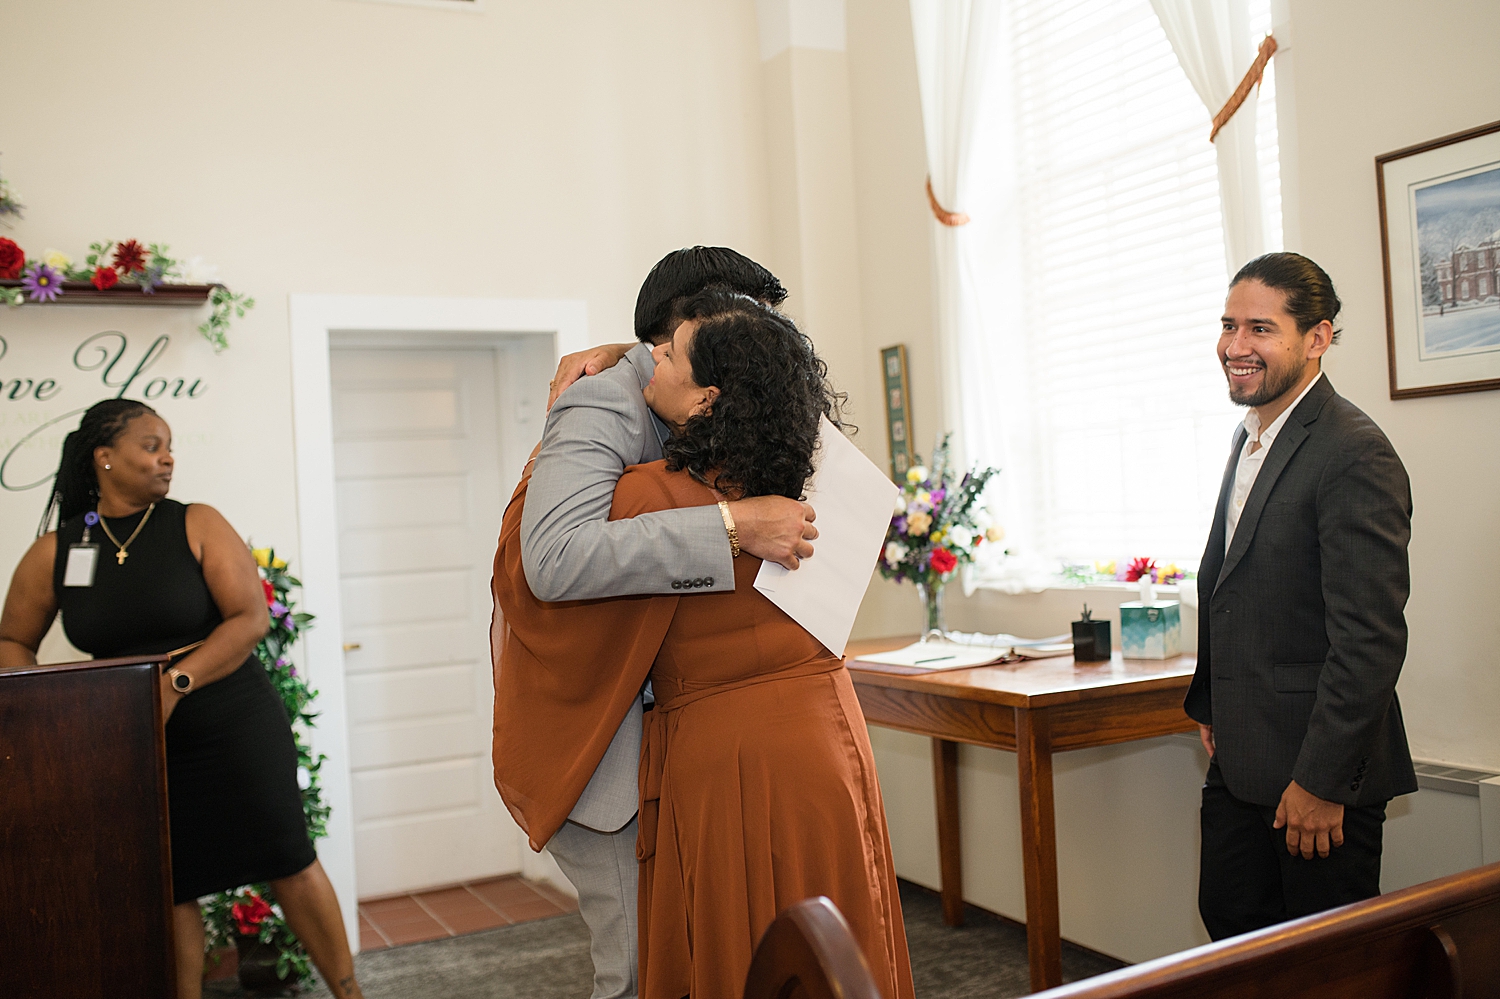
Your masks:
{"label": "dark charcoal suit jacket worn by the smiling bearded man", "polygon": [[1224,552],[1234,435],[1198,570],[1185,710],[1214,726],[1230,794],[1275,806],[1292,780],[1368,806],[1416,790],[1395,686],[1406,662],[1412,488],[1390,441],[1328,376],[1266,453]]}

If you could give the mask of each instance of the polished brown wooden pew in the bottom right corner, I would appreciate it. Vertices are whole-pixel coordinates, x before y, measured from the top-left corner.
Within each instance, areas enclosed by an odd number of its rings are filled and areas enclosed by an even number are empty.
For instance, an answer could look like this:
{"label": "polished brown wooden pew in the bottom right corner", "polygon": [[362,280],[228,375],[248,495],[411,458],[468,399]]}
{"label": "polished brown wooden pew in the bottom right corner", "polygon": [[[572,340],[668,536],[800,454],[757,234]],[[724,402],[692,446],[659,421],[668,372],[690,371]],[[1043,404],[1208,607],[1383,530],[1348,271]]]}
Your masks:
{"label": "polished brown wooden pew in the bottom right corner", "polygon": [[1293,920],[1035,999],[1500,996],[1500,864]]}

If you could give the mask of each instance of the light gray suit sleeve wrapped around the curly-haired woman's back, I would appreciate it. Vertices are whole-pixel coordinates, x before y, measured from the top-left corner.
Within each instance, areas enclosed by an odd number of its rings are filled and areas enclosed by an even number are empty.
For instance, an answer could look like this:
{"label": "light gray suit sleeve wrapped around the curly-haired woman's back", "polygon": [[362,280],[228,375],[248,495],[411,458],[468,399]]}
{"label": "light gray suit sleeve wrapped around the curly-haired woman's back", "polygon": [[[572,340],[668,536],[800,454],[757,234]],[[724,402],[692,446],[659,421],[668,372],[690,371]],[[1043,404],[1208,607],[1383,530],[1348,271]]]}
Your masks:
{"label": "light gray suit sleeve wrapped around the curly-haired woman's back", "polygon": [[642,460],[645,435],[656,432],[632,392],[594,375],[548,416],[520,516],[520,558],[538,600],[681,594],[690,584],[690,592],[735,588],[718,507],[609,520],[615,483]]}

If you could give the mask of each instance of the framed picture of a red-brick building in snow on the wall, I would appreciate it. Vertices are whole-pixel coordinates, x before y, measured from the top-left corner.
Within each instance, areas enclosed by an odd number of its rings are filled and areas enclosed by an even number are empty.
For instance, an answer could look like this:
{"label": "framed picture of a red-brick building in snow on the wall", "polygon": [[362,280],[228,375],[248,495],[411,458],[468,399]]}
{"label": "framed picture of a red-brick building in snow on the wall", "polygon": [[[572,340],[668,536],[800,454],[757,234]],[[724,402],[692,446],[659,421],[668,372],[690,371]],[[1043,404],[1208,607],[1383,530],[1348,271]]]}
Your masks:
{"label": "framed picture of a red-brick building in snow on the wall", "polygon": [[1500,122],[1376,158],[1390,398],[1500,388]]}

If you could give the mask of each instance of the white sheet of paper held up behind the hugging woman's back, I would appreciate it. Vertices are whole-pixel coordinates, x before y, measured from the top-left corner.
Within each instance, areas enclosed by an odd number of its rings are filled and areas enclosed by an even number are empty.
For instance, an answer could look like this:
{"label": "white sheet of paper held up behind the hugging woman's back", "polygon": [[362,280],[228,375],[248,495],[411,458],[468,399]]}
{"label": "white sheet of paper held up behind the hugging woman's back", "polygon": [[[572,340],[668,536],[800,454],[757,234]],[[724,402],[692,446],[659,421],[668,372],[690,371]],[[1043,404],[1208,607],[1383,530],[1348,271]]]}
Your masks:
{"label": "white sheet of paper held up behind the hugging woman's back", "polygon": [[807,502],[818,513],[813,556],[795,570],[760,566],[754,588],[788,616],[812,632],[836,656],[843,656],[870,586],[898,489],[854,441],[825,417],[818,471],[807,483]]}

